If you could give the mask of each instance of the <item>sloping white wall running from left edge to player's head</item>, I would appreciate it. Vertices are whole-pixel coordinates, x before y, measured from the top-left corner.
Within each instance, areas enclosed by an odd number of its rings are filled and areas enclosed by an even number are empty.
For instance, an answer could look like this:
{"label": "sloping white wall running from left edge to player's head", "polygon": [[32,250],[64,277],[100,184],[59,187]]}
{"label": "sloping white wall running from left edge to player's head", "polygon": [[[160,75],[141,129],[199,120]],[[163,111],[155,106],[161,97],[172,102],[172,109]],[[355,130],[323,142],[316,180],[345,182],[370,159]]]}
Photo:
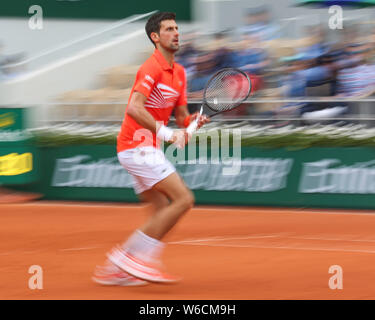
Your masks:
{"label": "sloping white wall running from left edge to player's head", "polygon": [[152,50],[144,30],[109,43],[60,58],[35,71],[0,83],[0,104],[43,104],[60,93],[95,88],[104,70],[119,64],[137,64],[140,53]]}

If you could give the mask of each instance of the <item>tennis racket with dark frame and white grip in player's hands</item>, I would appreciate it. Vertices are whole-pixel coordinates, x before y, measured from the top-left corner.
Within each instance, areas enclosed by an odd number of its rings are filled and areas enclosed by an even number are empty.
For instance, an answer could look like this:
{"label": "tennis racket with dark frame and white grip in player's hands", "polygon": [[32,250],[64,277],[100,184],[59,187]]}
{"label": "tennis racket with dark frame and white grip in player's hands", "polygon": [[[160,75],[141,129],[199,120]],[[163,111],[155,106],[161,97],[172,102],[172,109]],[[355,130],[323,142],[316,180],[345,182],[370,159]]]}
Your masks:
{"label": "tennis racket with dark frame and white grip in player's hands", "polygon": [[198,117],[190,123],[186,132],[191,135],[197,130],[198,121],[207,106],[214,111],[210,117],[240,106],[251,93],[249,76],[235,68],[224,68],[216,72],[207,82],[203,91],[203,104]]}

